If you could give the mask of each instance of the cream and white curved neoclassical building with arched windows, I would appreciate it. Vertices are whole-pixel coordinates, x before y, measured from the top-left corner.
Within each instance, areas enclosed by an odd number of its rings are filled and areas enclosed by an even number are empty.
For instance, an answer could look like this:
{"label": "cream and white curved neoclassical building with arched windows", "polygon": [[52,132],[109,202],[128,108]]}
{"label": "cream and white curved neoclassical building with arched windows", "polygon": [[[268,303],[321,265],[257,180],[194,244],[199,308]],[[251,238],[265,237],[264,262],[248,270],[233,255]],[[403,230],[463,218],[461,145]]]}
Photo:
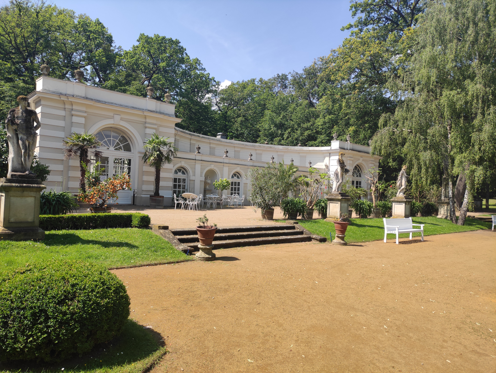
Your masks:
{"label": "cream and white curved neoclassical building with arched windows", "polygon": [[329,147],[286,147],[187,132],[175,126],[181,119],[175,117],[173,104],[49,76],[39,77],[28,97],[42,123],[36,153],[50,166],[48,189],[77,192],[79,161],[64,159],[62,140],[86,131],[103,144],[103,156],[97,160],[107,166],[106,176],[127,172],[131,178],[132,188],[119,192],[119,204],[131,204],[134,195],[136,205],[149,205],[155,173],[141,158],[143,142],[153,133],[170,138],[179,149],[160,174],[160,194],[166,205],[172,203],[173,194],[215,192],[205,179],[231,179],[231,190],[224,193],[249,198],[249,169],[264,167],[271,160],[293,162],[302,172],[308,171],[311,162],[332,175],[340,151],[345,153],[352,184],[369,189],[365,172],[377,169],[380,159],[370,154],[369,147],[342,141],[332,141]]}

